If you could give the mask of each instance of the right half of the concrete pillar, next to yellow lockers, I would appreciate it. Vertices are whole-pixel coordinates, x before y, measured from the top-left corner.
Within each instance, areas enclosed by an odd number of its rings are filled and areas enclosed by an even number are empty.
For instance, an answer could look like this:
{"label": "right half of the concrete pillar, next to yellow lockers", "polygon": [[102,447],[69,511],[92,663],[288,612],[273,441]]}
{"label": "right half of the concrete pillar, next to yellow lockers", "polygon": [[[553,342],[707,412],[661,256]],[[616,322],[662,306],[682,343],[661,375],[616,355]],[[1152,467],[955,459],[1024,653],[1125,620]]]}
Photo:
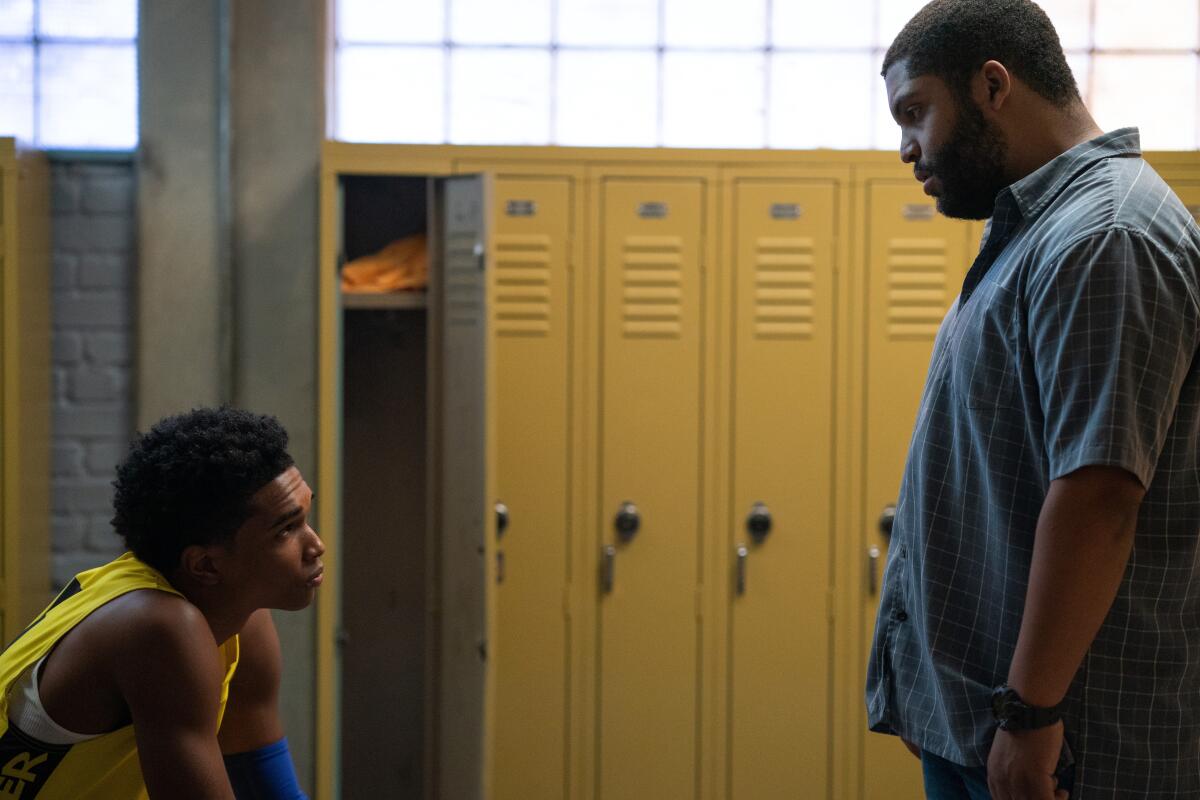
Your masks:
{"label": "right half of the concrete pillar, next to yellow lockers", "polygon": [[[234,395],[275,414],[317,476],[317,219],[325,102],[325,0],[235,2],[233,14]],[[320,503],[320,498],[317,499]],[[319,533],[319,531],[318,531]],[[337,591],[330,584],[322,591]],[[276,613],[282,704],[312,793],[316,609]],[[293,657],[304,654],[304,658]]]}

